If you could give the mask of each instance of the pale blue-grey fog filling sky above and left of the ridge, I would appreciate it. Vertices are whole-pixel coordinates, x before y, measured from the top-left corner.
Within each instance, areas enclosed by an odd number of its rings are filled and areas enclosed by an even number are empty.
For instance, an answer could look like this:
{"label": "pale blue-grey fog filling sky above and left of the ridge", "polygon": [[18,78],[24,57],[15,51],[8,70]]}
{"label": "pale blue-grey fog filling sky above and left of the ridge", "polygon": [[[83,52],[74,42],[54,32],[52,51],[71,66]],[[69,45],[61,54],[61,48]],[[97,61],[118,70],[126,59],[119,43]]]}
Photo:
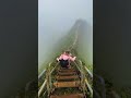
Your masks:
{"label": "pale blue-grey fog filling sky above and left of the ridge", "polygon": [[93,0],[38,0],[38,68],[78,19],[93,25]]}

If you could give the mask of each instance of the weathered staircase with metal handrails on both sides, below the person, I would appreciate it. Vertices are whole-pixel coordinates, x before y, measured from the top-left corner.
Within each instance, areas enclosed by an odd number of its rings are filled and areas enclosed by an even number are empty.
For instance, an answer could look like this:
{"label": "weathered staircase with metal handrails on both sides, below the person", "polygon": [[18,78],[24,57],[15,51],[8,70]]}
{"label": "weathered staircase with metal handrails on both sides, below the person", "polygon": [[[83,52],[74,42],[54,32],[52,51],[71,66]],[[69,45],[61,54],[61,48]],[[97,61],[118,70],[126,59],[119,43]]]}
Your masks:
{"label": "weathered staircase with metal handrails on both sides, below the person", "polygon": [[[38,98],[93,98],[90,83],[93,75],[81,61],[72,62],[71,69],[49,63],[40,76],[45,76],[38,90]],[[40,77],[39,77],[40,79]]]}

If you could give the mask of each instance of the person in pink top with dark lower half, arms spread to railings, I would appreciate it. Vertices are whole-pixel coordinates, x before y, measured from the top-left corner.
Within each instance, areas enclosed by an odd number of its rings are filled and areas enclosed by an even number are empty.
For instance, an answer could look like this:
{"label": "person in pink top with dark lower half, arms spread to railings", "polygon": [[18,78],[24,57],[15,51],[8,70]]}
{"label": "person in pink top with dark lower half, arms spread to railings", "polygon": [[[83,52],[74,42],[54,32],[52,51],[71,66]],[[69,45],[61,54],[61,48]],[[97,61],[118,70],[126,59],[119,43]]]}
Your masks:
{"label": "person in pink top with dark lower half, arms spread to railings", "polygon": [[76,57],[72,57],[70,51],[64,51],[57,61],[60,61],[60,65],[66,69],[70,69],[70,61],[74,61]]}

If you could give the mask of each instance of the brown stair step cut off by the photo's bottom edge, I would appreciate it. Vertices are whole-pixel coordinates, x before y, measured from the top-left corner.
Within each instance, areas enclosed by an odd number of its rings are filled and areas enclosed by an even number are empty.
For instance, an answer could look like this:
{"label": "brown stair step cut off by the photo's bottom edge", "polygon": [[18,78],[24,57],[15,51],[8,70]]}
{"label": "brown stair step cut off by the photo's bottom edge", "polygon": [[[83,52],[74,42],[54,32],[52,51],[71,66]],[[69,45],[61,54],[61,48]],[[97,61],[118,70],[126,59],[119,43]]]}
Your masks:
{"label": "brown stair step cut off by the photo's bottom edge", "polygon": [[83,94],[71,94],[71,95],[51,95],[50,98],[84,98]]}

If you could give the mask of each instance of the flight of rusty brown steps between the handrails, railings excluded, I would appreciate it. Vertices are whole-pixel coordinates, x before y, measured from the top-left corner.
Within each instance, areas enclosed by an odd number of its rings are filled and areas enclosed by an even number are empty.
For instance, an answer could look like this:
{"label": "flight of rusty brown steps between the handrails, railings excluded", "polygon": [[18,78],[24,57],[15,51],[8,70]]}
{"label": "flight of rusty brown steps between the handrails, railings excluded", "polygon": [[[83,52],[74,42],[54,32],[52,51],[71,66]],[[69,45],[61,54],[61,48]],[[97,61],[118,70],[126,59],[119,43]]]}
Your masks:
{"label": "flight of rusty brown steps between the handrails, railings excluded", "polygon": [[60,69],[53,83],[55,90],[50,98],[85,98],[81,87],[81,76],[76,69]]}

